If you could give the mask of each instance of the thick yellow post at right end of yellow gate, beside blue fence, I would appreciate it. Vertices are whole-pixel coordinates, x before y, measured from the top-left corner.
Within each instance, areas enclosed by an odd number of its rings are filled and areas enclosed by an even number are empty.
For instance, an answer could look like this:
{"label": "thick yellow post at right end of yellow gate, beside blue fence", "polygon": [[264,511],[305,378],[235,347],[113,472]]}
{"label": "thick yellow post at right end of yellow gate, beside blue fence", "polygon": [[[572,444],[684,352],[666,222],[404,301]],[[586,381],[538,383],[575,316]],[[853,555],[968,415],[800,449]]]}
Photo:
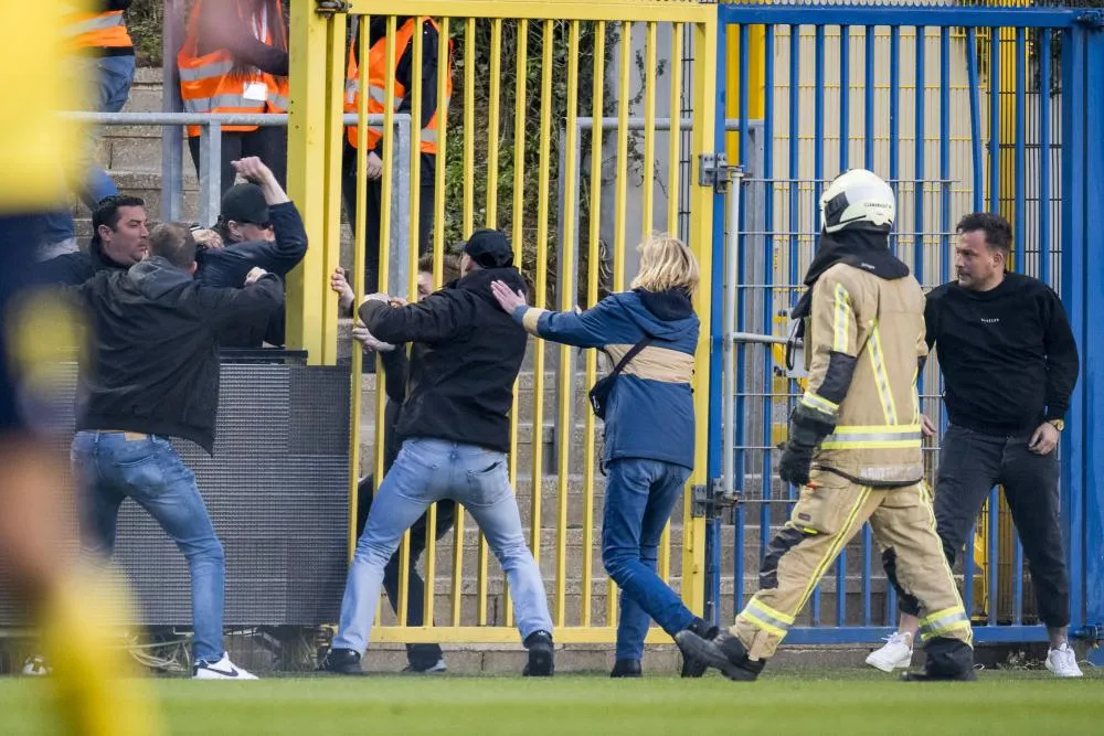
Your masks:
{"label": "thick yellow post at right end of yellow gate, beside blue fence", "polygon": [[[710,151],[713,148],[714,124],[710,111],[713,109],[715,94],[712,79],[716,76],[716,33],[708,23],[694,26],[694,73],[693,73],[693,131],[691,132],[691,153]],[[698,182],[701,161],[692,156],[693,173],[691,181]],[[698,257],[702,278],[712,273],[712,233],[713,223],[713,190],[708,186],[692,185],[690,190],[690,243],[688,244]],[[708,280],[702,281],[708,284]],[[694,295],[694,310],[701,320],[701,338],[698,354],[694,356],[694,376],[698,383],[694,391],[694,414],[698,416],[694,440],[694,469],[690,476],[690,486],[704,484],[707,478],[708,423],[709,415],[709,334],[710,334],[710,295],[700,288]],[[682,600],[696,614],[701,614],[705,602],[705,520],[691,514],[691,494],[686,494],[682,526]]]}

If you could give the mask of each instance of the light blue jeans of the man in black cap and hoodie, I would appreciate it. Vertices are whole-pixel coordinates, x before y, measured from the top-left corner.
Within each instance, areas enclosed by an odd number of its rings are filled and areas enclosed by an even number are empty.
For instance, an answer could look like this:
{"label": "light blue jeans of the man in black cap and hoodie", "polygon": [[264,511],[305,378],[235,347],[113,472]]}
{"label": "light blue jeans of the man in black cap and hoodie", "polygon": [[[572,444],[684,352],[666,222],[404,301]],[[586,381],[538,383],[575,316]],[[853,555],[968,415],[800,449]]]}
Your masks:
{"label": "light blue jeans of the man in black cap and hoodie", "polygon": [[544,583],[526,546],[506,456],[474,445],[413,438],[403,442],[372,501],[349,568],[335,649],[368,648],[388,561],[403,533],[443,499],[463,503],[487,537],[510,582],[522,640],[534,631],[552,631]]}

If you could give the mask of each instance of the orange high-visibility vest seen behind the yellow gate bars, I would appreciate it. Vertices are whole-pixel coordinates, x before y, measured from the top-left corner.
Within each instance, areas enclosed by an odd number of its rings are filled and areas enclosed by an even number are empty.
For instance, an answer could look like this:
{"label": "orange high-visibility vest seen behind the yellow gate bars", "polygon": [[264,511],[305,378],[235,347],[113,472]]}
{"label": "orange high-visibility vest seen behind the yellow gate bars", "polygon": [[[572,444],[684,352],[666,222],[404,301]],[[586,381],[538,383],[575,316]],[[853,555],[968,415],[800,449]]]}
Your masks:
{"label": "orange high-visibility vest seen behind the yellow gate bars", "polygon": [[[406,51],[406,46],[411,43],[411,39],[414,38],[415,30],[422,29],[422,23],[424,21],[429,21],[437,32],[440,29],[437,28],[437,23],[432,18],[420,18],[415,23],[412,18],[402,24],[395,32],[395,57],[391,60],[391,68],[399,66],[399,61],[403,57],[403,52]],[[368,33],[368,28],[362,28],[361,33]],[[384,99],[388,89],[388,40],[385,38],[380,39],[368,52],[368,81],[365,89],[368,90],[368,114],[369,115],[382,115],[385,110]],[[357,56],[354,54],[355,43],[349,49],[349,65],[346,71],[346,113],[358,111],[360,105],[360,70],[357,65]],[[445,65],[445,73],[448,75],[445,82],[445,99],[437,100],[437,109],[434,110],[433,117],[426,122],[425,127],[422,128],[422,147],[423,153],[436,153],[437,152],[437,118],[442,115],[448,114],[448,100],[453,96],[453,61],[452,57],[447,60]],[[414,74],[418,74],[418,70],[414,70]],[[394,96],[392,97],[391,105],[393,110],[399,109],[399,105],[402,104],[403,98],[406,96],[406,87],[399,84],[395,79]],[[420,111],[415,111],[415,119],[421,116]],[[357,147],[357,126],[349,126],[347,128],[349,143],[355,148]],[[368,126],[368,147],[370,149],[375,148],[375,145],[380,142],[383,137],[383,126]]]}

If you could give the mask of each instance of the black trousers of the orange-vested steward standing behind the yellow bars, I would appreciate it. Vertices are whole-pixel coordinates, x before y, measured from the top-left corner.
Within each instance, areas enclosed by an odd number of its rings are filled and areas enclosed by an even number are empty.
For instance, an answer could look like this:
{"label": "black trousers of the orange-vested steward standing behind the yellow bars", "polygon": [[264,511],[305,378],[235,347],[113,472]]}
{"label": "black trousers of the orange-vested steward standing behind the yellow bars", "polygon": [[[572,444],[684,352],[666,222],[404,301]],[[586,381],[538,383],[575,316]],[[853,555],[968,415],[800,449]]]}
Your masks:
{"label": "black trousers of the orange-vested steward standing behind the yellow bars", "polygon": [[[418,196],[418,236],[417,252],[420,256],[433,248],[433,200],[434,200],[434,167],[436,157],[422,154],[422,186]],[[393,191],[394,198],[408,198],[407,192]],[[346,216],[353,232],[357,231],[357,149],[346,143],[341,166],[341,199],[344,200]],[[382,211],[383,182],[380,179],[369,180],[368,202],[365,203],[364,228],[364,294],[374,294],[380,286],[380,212]],[[391,223],[392,233],[396,227],[410,227],[408,222]],[[392,242],[394,238],[392,236]],[[383,285],[386,291],[386,285]]]}

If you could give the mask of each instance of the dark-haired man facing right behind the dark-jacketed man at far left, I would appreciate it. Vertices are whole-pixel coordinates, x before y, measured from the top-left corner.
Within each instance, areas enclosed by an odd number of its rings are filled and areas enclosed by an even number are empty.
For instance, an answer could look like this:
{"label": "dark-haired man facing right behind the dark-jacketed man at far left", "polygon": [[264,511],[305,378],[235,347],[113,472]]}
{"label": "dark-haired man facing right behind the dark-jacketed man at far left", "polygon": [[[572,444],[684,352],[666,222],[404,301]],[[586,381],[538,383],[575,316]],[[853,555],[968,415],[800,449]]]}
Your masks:
{"label": "dark-haired man facing right behind the dark-jacketed man at far left", "polygon": [[146,257],[148,238],[146,202],[141,198],[105,198],[92,213],[87,253],[66,253],[38,264],[36,280],[76,286],[100,270],[125,270]]}

